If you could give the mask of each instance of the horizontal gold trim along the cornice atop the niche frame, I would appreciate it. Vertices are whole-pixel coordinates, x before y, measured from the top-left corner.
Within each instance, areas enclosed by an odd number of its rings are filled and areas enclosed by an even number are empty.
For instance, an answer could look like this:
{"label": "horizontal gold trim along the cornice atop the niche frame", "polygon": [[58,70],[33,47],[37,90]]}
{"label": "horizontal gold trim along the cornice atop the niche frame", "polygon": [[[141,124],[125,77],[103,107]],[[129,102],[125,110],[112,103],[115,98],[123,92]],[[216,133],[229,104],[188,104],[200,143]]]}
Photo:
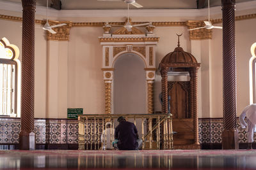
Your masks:
{"label": "horizontal gold trim along the cornice atop the niche frame", "polygon": [[132,37],[132,38],[108,38],[108,37],[100,37],[100,42],[146,42],[146,41],[152,41],[152,42],[158,42],[159,37]]}

